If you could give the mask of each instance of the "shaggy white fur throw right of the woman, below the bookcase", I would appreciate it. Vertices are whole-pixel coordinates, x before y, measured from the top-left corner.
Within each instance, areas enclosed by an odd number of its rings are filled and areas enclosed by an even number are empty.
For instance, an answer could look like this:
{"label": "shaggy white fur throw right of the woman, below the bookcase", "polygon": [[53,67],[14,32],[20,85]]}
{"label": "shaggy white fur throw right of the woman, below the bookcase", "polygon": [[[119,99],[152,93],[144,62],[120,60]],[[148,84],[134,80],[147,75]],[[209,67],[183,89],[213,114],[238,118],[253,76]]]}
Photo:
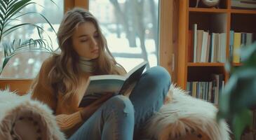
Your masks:
{"label": "shaggy white fur throw right of the woman, below the bookcase", "polygon": [[[149,120],[146,137],[167,140],[185,137],[191,132],[201,132],[210,140],[229,140],[229,127],[225,121],[215,120],[217,109],[213,104],[189,96],[184,90],[170,86],[171,97]],[[191,139],[191,137],[189,137]]]}

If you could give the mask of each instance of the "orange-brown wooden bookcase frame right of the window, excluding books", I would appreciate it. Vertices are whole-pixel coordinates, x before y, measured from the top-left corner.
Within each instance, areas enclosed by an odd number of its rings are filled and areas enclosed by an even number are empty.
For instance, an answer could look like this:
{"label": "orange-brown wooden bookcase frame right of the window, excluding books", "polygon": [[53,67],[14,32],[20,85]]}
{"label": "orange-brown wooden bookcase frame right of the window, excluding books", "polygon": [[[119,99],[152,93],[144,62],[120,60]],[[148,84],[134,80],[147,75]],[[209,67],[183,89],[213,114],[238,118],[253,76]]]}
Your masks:
{"label": "orange-brown wooden bookcase frame right of the window, excluding books", "polygon": [[[200,71],[201,77],[208,77],[206,76],[209,74],[208,71],[222,73],[225,83],[229,80],[229,73],[224,71],[224,63],[191,62],[191,58],[189,58],[189,30],[193,28],[193,24],[197,24],[199,29],[226,33],[226,58],[229,58],[230,30],[256,33],[256,10],[233,9],[231,8],[231,0],[220,0],[219,8],[206,8],[200,5],[195,8],[195,5],[196,0],[184,0],[180,1],[179,7],[177,85],[184,90],[186,90],[187,81],[196,78],[196,76],[189,74],[197,75],[196,71]],[[233,64],[233,66],[241,65],[241,63]],[[213,71],[213,67],[215,71]],[[196,79],[198,80],[198,78]]]}

